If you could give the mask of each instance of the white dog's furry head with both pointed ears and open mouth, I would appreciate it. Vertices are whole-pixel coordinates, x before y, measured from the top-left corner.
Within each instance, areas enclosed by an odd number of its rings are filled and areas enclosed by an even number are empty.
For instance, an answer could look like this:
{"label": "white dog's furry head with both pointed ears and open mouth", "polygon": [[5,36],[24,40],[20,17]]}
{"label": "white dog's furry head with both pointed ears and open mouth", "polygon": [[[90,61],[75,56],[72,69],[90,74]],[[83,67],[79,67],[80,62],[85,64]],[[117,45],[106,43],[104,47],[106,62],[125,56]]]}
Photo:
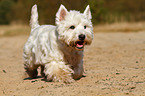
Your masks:
{"label": "white dog's furry head with both pointed ears and open mouth", "polygon": [[61,5],[56,14],[56,25],[59,41],[76,50],[83,50],[85,45],[90,45],[93,39],[93,26],[91,22],[89,5],[84,13],[67,11]]}

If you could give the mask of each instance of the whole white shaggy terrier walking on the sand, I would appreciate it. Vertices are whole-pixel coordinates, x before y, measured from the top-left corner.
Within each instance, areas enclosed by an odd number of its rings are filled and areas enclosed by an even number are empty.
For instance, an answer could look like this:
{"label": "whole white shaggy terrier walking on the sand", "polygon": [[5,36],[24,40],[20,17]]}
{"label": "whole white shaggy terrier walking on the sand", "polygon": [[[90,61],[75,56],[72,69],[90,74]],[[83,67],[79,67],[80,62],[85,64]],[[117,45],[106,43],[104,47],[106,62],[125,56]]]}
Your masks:
{"label": "whole white shaggy terrier walking on the sand", "polygon": [[39,25],[37,5],[32,7],[31,34],[23,49],[24,66],[31,78],[41,75],[48,81],[70,83],[83,74],[83,49],[93,39],[89,5],[84,13],[67,11],[61,5],[56,26]]}

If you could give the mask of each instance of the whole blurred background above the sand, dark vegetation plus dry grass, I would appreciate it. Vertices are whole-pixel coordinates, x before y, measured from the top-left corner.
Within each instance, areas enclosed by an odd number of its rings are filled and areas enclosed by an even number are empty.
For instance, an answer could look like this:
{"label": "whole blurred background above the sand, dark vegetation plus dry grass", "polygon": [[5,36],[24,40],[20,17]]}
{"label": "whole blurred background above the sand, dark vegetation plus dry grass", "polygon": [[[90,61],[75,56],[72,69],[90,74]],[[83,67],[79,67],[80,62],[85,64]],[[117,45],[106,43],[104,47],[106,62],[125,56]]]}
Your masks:
{"label": "whole blurred background above the sand, dark vegetation plus dry grass", "polygon": [[0,0],[0,37],[29,35],[34,4],[38,5],[40,24],[55,24],[60,4],[81,12],[90,5],[94,32],[145,30],[145,0]]}

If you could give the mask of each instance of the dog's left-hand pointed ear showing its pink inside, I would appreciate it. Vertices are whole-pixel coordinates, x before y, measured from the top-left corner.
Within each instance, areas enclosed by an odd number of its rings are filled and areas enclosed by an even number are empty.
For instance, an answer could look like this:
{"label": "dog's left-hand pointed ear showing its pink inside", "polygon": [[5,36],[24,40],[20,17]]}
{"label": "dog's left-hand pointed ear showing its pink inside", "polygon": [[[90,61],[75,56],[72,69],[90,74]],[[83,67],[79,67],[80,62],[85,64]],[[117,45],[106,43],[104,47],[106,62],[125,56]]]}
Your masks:
{"label": "dog's left-hand pointed ear showing its pink inside", "polygon": [[56,13],[56,21],[59,22],[64,20],[67,13],[68,13],[67,9],[61,4],[58,12]]}

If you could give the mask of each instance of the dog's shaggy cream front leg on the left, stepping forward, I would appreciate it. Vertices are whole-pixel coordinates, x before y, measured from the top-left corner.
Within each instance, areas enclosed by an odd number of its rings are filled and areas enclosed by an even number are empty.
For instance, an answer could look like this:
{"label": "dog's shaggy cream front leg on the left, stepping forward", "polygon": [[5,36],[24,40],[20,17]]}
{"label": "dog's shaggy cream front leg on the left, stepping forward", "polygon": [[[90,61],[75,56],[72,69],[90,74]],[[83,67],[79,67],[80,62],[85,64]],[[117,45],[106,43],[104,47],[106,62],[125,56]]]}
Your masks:
{"label": "dog's shaggy cream front leg on the left, stepping forward", "polygon": [[65,65],[64,62],[52,61],[45,65],[44,73],[46,80],[55,82],[73,82],[72,74],[73,70]]}

